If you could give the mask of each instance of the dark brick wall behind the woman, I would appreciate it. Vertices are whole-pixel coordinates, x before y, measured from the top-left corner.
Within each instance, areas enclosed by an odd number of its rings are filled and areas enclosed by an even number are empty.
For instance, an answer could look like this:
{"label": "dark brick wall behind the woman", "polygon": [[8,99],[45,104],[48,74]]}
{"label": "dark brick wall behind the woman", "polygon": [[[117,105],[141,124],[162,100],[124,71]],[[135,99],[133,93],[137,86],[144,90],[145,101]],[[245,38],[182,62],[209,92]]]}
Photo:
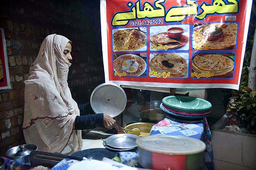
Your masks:
{"label": "dark brick wall behind the woman", "polygon": [[0,8],[12,87],[0,90],[0,155],[5,155],[25,143],[23,81],[47,35],[63,35],[73,42],[68,83],[78,104],[89,101],[92,90],[104,82],[104,73],[100,1],[11,0],[1,2]]}

